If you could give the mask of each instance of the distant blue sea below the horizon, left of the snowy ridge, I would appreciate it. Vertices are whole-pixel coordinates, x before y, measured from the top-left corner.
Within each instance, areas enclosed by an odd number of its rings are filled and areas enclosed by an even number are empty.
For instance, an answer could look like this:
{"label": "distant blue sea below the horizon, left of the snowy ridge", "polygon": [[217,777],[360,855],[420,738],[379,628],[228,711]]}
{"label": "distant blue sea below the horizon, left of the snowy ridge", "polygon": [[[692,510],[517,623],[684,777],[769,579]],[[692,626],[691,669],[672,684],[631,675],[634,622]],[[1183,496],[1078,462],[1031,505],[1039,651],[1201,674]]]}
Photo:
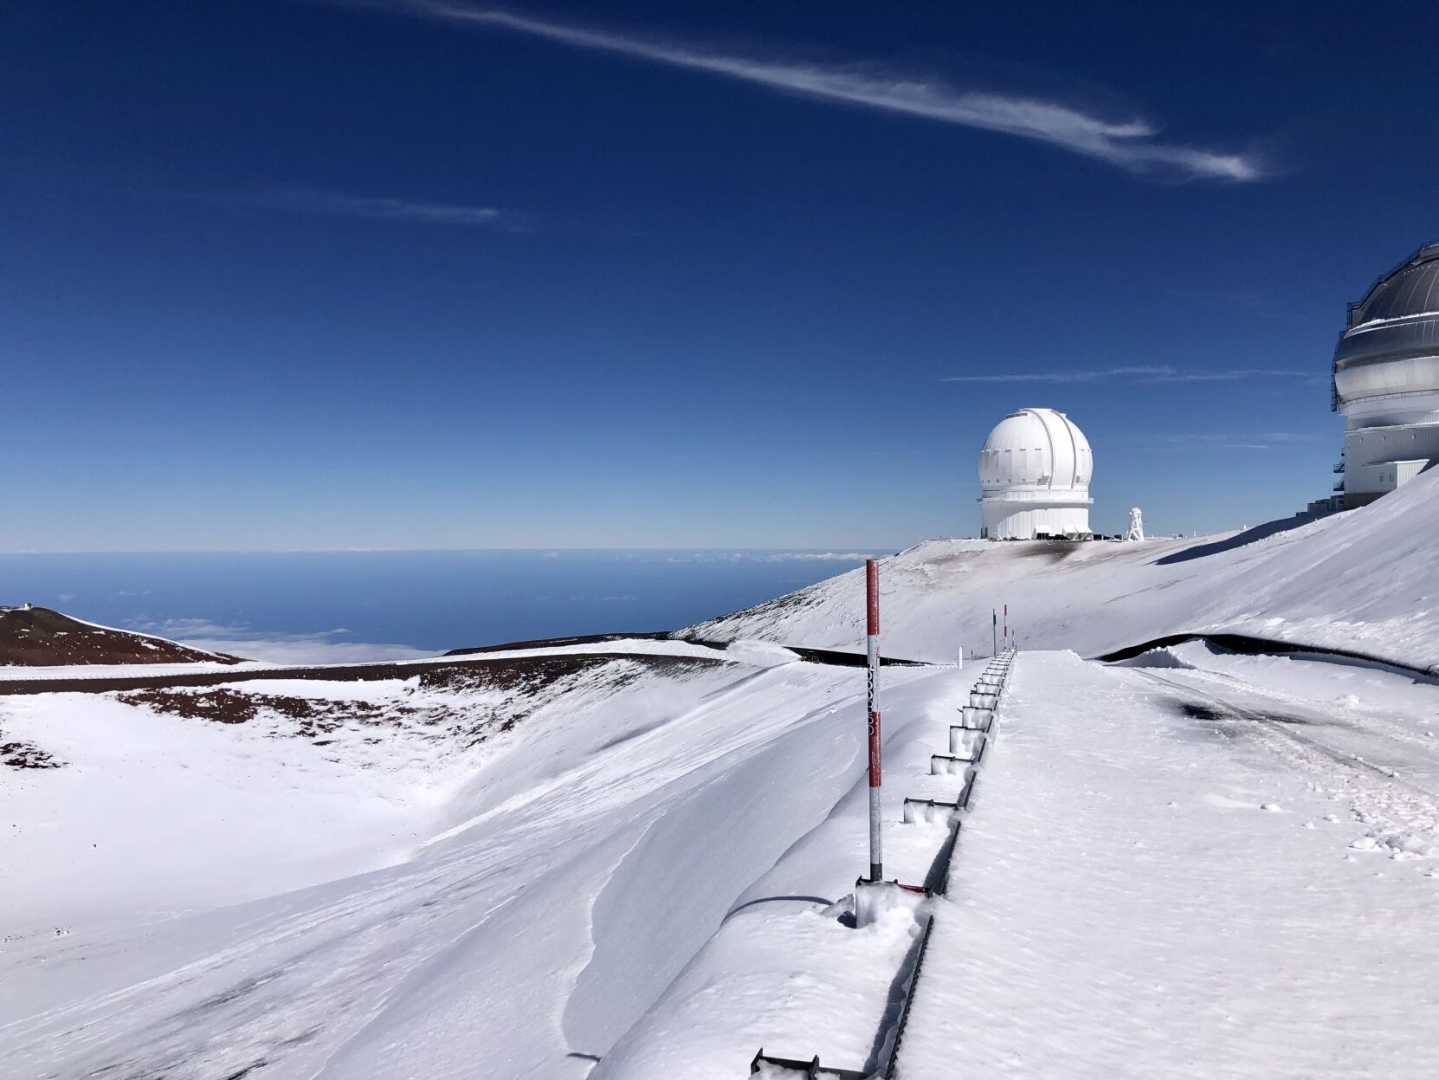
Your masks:
{"label": "distant blue sea below the horizon, left of the snowy ridge", "polygon": [[403,659],[673,630],[862,564],[865,551],[0,555],[0,604],[282,662]]}

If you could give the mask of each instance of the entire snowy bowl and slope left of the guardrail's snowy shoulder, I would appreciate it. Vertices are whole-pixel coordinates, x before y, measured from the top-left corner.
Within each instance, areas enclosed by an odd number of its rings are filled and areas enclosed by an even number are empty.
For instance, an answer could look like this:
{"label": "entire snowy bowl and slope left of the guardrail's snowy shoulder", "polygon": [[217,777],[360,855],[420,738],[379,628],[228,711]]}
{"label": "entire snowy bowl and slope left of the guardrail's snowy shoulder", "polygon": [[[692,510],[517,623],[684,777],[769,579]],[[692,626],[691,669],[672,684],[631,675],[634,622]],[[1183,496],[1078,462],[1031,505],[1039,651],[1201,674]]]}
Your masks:
{"label": "entire snowy bowl and slope left of the guardrail's snowy shoulder", "polygon": [[0,696],[0,726],[66,761],[0,787],[0,877],[24,882],[0,893],[0,1060],[584,1076],[862,784],[863,673],[731,651],[561,650],[545,686],[417,664]]}

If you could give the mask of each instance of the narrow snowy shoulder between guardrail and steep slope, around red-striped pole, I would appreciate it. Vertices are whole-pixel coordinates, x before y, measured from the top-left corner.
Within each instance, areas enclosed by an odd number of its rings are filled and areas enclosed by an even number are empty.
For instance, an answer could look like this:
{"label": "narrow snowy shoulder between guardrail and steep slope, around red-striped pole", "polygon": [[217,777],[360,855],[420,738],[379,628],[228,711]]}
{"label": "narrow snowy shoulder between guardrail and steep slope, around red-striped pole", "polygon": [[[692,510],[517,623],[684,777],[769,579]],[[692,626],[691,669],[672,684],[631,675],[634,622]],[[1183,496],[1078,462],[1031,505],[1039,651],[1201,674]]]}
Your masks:
{"label": "narrow snowy shoulder between guardrail and steep slope, around red-striped pole", "polygon": [[[937,771],[932,758],[951,745],[977,673],[938,669],[885,693],[886,880],[922,883],[947,857],[950,815],[907,814],[905,800],[953,802],[966,788],[964,775]],[[850,893],[868,870],[868,810],[856,769],[827,811],[735,897],[718,932],[591,1080],[721,1080],[743,1076],[760,1048],[776,1058],[817,1054],[846,1074],[882,1071],[922,920],[915,897],[881,905],[866,925],[853,922]]]}

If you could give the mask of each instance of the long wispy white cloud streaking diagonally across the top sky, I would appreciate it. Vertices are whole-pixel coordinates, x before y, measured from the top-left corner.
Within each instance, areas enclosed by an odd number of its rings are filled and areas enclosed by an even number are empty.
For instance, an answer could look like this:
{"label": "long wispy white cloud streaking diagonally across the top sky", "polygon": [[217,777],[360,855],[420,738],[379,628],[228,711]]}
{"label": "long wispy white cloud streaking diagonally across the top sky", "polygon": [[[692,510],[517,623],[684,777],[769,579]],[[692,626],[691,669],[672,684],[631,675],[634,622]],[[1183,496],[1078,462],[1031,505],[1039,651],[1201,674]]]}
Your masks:
{"label": "long wispy white cloud streaking diagonally across the top sky", "polygon": [[743,56],[689,45],[596,30],[502,9],[445,0],[338,0],[446,22],[527,33],[551,42],[630,56],[650,63],[707,72],[816,101],[904,114],[943,124],[1036,139],[1131,173],[1167,173],[1187,178],[1252,181],[1265,175],[1252,154],[1167,142],[1141,118],[1109,119],[1039,96],[960,89],[943,79],[882,70],[872,63],[812,63]]}

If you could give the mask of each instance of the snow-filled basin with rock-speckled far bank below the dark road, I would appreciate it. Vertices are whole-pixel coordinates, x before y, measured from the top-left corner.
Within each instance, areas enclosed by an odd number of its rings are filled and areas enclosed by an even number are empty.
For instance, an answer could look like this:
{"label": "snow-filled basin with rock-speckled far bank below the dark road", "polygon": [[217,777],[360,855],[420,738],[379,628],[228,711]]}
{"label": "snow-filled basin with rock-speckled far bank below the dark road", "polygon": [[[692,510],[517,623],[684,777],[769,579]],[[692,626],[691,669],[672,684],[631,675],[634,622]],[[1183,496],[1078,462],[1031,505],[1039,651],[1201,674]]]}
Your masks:
{"label": "snow-filled basin with rock-speckled far bank below the dark road", "polygon": [[718,660],[568,654],[0,697],[0,742],[45,755],[0,772],[17,823],[0,879],[24,882],[0,892],[0,926],[150,919],[401,861],[476,804],[463,790],[498,762],[486,797],[522,784],[531,741],[561,768],[734,679]]}

